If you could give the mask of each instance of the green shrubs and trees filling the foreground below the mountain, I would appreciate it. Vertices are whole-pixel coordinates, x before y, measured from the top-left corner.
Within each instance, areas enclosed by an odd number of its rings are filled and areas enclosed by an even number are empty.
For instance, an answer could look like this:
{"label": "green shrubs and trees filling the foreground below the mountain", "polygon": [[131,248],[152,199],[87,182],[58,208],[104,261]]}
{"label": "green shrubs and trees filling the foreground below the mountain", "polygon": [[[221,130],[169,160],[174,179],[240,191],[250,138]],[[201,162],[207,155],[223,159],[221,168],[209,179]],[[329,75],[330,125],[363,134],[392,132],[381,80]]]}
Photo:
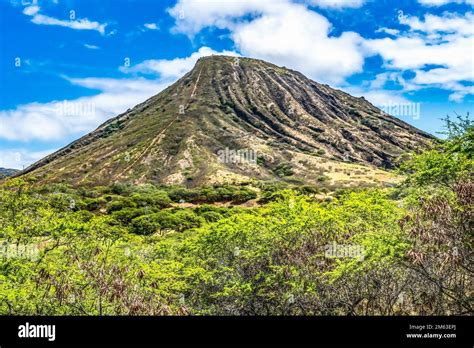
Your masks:
{"label": "green shrubs and trees filling the foreground below the mountain", "polygon": [[0,313],[472,313],[474,128],[448,126],[446,141],[402,164],[398,187],[328,200],[279,182],[10,179],[0,186]]}

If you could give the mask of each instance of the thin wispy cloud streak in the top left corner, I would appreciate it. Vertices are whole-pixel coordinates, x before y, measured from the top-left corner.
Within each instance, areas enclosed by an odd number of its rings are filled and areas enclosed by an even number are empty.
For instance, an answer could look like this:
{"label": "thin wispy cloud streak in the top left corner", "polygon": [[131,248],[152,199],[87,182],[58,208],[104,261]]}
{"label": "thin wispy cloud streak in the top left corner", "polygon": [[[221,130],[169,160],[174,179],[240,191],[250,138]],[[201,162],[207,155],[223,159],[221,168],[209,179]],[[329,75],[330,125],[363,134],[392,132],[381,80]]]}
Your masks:
{"label": "thin wispy cloud streak in the top left corner", "polygon": [[23,13],[31,17],[31,22],[38,25],[56,25],[75,30],[95,30],[105,34],[105,27],[107,24],[101,24],[96,21],[89,21],[87,18],[77,20],[62,20],[54,17],[43,15],[40,12],[40,7],[37,5],[27,6],[23,9]]}

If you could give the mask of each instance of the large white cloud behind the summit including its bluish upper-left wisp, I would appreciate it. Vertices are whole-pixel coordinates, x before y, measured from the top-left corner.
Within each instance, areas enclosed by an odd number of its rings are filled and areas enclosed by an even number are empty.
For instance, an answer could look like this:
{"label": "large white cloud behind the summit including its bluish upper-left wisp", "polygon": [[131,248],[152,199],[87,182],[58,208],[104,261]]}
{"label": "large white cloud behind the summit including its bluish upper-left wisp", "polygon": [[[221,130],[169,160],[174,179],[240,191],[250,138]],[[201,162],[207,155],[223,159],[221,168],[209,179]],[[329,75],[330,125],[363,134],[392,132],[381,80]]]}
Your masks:
{"label": "large white cloud behind the summit including its bluish upper-left wisp", "polygon": [[331,23],[303,4],[180,0],[169,13],[176,18],[176,32],[193,36],[206,27],[228,29],[243,55],[292,67],[321,82],[340,83],[363,68],[363,38],[354,32],[330,35]]}

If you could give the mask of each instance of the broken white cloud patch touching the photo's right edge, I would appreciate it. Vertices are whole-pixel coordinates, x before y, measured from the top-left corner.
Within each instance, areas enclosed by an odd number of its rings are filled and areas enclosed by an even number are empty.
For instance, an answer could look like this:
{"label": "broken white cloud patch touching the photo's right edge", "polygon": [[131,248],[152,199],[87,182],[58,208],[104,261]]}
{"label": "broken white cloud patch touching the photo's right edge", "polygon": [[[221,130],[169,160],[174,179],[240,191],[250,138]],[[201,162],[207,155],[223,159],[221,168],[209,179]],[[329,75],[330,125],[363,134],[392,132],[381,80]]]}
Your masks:
{"label": "broken white cloud patch touching the photo's right edge", "polygon": [[473,90],[468,86],[474,82],[473,19],[471,12],[428,14],[423,19],[401,16],[407,32],[396,38],[365,40],[364,45],[398,75],[414,73],[410,80],[398,79],[404,90],[440,88],[453,92],[451,101],[461,101]]}

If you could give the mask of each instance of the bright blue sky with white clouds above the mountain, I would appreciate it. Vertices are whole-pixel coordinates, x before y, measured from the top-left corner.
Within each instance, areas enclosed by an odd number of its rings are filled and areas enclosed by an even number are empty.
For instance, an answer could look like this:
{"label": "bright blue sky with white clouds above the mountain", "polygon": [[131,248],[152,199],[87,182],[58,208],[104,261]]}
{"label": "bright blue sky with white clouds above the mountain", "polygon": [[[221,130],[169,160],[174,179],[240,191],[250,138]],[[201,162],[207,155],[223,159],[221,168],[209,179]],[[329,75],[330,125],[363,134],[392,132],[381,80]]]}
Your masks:
{"label": "bright blue sky with white clouds above the mountain", "polygon": [[210,54],[261,58],[435,133],[474,112],[474,0],[0,0],[0,167],[22,168]]}

